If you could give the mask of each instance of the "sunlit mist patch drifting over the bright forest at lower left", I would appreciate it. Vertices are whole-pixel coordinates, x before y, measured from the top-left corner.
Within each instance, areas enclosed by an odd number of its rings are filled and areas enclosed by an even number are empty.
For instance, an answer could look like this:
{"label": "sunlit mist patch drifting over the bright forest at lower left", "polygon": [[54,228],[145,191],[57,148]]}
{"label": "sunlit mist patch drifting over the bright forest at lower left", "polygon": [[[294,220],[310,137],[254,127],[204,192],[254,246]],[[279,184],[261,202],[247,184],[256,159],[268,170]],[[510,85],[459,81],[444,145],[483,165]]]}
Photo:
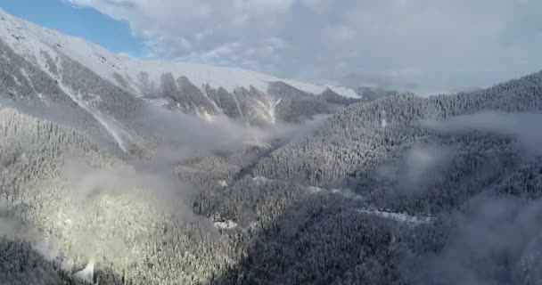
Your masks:
{"label": "sunlit mist patch drifting over the bright forest at lower left", "polygon": [[[153,161],[157,163],[157,161]],[[143,198],[145,195],[164,213],[177,216],[179,221],[190,221],[193,212],[194,189],[183,183],[173,167],[139,162],[134,165],[118,163],[95,169],[81,157],[67,157],[61,169],[62,178],[70,183],[75,197],[85,202],[110,197]]]}

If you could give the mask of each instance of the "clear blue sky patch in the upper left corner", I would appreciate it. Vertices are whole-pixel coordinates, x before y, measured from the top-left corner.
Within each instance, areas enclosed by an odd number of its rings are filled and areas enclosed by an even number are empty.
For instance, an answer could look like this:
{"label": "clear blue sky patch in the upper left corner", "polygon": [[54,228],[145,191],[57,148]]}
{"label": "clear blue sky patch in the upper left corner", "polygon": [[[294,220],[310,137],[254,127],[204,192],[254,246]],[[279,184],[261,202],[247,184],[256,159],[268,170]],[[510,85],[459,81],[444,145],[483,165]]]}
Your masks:
{"label": "clear blue sky patch in the upper left corner", "polygon": [[62,0],[0,0],[0,7],[40,26],[83,37],[113,53],[144,55],[142,39],[132,35],[126,22],[113,20],[92,8],[76,7]]}

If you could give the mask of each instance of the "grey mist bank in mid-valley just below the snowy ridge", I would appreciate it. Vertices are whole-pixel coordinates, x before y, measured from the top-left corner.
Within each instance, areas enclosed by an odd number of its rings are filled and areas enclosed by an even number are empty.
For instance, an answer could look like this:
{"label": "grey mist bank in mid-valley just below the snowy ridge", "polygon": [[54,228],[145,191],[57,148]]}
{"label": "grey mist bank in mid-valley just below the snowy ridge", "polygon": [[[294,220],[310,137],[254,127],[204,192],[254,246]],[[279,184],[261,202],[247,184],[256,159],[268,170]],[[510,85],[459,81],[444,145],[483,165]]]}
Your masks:
{"label": "grey mist bank in mid-valley just below the snowy ridge", "polygon": [[226,116],[206,119],[149,103],[130,121],[145,136],[160,141],[162,155],[167,153],[169,158],[173,158],[177,152],[176,159],[187,159],[216,151],[242,151],[250,146],[267,146],[277,140],[300,140],[316,131],[327,118],[319,115],[300,124],[247,126]]}

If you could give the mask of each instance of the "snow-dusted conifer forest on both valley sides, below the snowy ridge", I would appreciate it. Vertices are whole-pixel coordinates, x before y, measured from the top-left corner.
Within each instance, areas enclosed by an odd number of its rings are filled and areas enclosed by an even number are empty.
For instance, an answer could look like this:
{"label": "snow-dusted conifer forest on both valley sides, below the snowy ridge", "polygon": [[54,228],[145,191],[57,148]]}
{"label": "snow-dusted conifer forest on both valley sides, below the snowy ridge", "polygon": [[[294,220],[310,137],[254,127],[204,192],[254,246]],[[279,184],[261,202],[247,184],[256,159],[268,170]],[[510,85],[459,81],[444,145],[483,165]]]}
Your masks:
{"label": "snow-dusted conifer forest on both valley sides, below the snowy ridge", "polygon": [[537,284],[540,77],[353,104],[305,139],[173,176],[4,108],[2,278]]}

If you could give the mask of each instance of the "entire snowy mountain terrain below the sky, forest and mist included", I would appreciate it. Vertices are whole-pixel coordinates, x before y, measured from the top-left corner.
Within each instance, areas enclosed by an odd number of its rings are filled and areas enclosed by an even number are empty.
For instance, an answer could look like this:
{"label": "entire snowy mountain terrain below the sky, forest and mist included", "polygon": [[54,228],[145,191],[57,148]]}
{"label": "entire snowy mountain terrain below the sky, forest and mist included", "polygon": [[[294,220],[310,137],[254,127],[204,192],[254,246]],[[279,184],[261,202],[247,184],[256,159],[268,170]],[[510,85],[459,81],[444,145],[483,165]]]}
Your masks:
{"label": "entire snowy mountain terrain below the sky, forest and mist included", "polygon": [[0,10],[0,285],[542,284],[542,71],[422,97],[134,62]]}

